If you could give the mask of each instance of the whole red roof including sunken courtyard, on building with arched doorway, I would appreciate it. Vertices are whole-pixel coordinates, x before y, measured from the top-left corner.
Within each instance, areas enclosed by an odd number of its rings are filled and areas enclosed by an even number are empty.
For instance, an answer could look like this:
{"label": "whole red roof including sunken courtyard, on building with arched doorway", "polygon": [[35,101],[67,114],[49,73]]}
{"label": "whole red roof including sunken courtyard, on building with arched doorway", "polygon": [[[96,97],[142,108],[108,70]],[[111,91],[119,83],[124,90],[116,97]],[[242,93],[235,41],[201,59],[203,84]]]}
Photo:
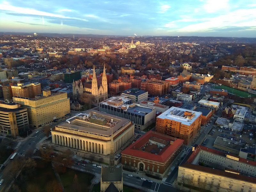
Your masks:
{"label": "whole red roof including sunken courtyard, on building with arched doorway", "polygon": [[[159,143],[159,145],[151,143]],[[164,147],[160,146],[164,144]],[[149,131],[141,136],[139,140],[124,149],[121,154],[140,157],[143,159],[164,162],[169,156],[172,156],[175,151],[183,144],[183,140],[176,139],[154,131]]]}

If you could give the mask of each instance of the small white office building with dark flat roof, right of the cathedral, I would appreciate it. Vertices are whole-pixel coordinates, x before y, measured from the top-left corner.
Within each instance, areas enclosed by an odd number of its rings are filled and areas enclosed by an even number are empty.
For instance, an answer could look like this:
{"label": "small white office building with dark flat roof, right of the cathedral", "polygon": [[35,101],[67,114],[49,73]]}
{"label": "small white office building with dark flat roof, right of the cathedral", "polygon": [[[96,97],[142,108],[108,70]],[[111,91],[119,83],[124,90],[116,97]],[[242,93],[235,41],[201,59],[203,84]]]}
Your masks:
{"label": "small white office building with dark flat roof, right of the cathedral", "polygon": [[140,103],[141,101],[148,100],[148,92],[134,88],[123,91],[121,96],[126,96],[134,103]]}

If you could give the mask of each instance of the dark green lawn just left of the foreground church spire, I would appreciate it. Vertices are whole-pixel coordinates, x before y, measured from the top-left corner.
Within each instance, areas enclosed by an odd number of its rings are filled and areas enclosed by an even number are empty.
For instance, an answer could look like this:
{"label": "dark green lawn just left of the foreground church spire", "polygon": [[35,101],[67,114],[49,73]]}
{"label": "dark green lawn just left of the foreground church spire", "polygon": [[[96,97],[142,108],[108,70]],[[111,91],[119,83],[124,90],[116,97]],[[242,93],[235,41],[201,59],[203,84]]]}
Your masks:
{"label": "dark green lawn just left of the foreground church spire", "polygon": [[91,180],[94,176],[92,174],[75,171],[67,168],[67,172],[60,173],[60,179],[65,192],[73,191],[89,191]]}

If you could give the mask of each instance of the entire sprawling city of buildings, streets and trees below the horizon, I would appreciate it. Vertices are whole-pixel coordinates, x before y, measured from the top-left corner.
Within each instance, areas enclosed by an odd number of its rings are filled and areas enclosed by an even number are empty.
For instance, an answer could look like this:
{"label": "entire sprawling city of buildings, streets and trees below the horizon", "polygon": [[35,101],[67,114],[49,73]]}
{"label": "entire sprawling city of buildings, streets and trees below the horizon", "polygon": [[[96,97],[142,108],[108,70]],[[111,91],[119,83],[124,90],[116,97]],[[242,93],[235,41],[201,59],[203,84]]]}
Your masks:
{"label": "entire sprawling city of buildings, streets and trees below the horizon", "polygon": [[255,38],[0,33],[0,192],[253,192],[255,141]]}

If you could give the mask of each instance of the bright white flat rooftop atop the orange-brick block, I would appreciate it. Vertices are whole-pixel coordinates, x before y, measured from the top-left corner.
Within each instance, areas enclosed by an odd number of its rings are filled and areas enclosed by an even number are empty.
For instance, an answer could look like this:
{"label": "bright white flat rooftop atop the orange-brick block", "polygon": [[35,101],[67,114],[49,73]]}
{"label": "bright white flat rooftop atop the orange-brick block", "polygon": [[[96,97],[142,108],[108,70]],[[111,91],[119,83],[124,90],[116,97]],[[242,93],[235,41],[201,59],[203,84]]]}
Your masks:
{"label": "bright white flat rooftop atop the orange-brick block", "polygon": [[[191,118],[188,115],[185,115],[185,112],[191,113]],[[199,116],[202,115],[202,112],[191,111],[188,109],[171,107],[163,114],[157,116],[160,119],[169,119],[172,121],[178,121],[181,124],[191,125]]]}

